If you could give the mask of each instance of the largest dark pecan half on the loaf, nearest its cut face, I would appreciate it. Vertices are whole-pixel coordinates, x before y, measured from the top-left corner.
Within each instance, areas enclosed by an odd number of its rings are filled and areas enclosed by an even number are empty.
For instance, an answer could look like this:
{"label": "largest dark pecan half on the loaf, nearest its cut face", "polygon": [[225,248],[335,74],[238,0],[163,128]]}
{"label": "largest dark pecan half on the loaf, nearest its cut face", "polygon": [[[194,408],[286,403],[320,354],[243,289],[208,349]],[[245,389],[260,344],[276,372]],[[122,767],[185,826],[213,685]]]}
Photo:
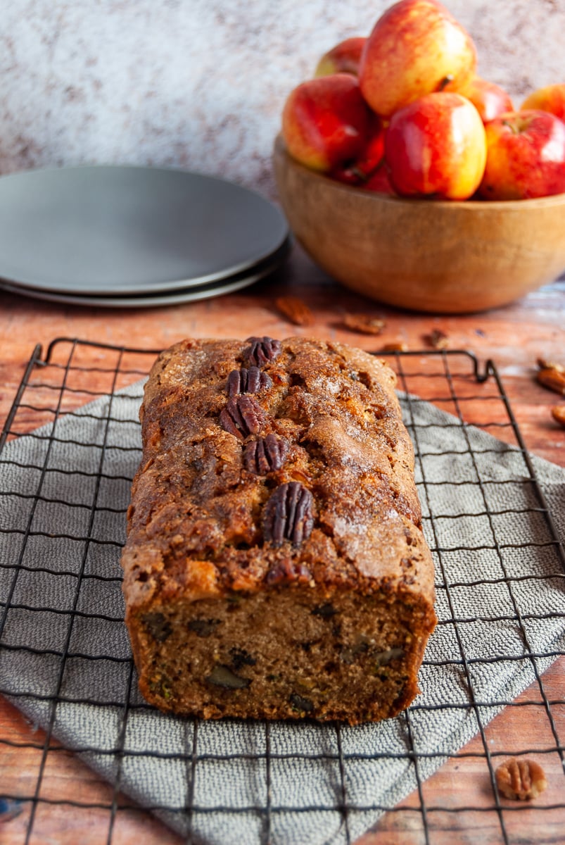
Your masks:
{"label": "largest dark pecan half on the loaf, nearest its cut face", "polygon": [[300,546],[312,533],[312,503],[312,493],[300,482],[281,484],[263,510],[265,539],[274,546],[281,546],[285,540]]}

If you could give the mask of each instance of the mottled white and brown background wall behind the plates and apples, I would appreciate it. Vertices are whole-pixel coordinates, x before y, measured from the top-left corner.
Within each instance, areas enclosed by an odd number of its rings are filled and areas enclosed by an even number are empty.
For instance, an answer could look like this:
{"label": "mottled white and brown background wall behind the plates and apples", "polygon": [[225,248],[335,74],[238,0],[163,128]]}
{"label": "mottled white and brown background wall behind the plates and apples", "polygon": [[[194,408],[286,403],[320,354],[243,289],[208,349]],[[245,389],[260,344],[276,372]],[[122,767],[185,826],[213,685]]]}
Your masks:
{"label": "mottled white and brown background wall behind the plates and apples", "polygon": [[[444,0],[519,106],[565,81],[565,0]],[[390,0],[3,0],[0,172],[128,163],[274,197],[285,96]]]}

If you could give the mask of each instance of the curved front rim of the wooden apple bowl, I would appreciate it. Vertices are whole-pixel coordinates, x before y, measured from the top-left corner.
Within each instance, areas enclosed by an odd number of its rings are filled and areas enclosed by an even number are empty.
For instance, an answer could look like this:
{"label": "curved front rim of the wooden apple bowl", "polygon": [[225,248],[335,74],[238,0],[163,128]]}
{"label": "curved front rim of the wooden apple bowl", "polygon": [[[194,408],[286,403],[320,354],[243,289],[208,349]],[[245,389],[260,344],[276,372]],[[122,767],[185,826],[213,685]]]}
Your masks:
{"label": "curved front rim of the wooden apple bowl", "polygon": [[366,191],[364,188],[358,188],[356,185],[346,185],[343,182],[338,182],[337,179],[332,179],[326,173],[312,170],[311,167],[303,165],[301,161],[293,158],[286,148],[285,139],[279,133],[274,139],[274,155],[283,155],[292,167],[296,170],[305,172],[308,176],[317,178],[326,184],[331,185],[335,190],[344,191],[347,194],[353,192],[359,196],[367,197],[368,201],[378,200],[385,204],[394,205],[409,205],[429,208],[431,205],[434,208],[465,208],[465,209],[519,209],[519,208],[546,208],[552,205],[565,204],[565,194],[548,194],[546,197],[532,197],[530,199],[433,199],[432,197],[425,199],[420,197],[393,197],[388,194],[378,194],[377,191]]}

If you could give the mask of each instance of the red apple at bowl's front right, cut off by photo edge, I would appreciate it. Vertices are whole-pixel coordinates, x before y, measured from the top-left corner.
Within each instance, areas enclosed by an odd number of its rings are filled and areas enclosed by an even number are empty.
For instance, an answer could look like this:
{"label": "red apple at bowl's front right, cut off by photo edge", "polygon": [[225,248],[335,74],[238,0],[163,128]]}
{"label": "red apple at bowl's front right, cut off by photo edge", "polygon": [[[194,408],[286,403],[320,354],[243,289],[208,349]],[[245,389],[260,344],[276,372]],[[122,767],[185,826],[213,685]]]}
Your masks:
{"label": "red apple at bowl's front right, cut off by photo edge", "polygon": [[486,124],[483,199],[565,193],[565,123],[550,112],[508,112]]}

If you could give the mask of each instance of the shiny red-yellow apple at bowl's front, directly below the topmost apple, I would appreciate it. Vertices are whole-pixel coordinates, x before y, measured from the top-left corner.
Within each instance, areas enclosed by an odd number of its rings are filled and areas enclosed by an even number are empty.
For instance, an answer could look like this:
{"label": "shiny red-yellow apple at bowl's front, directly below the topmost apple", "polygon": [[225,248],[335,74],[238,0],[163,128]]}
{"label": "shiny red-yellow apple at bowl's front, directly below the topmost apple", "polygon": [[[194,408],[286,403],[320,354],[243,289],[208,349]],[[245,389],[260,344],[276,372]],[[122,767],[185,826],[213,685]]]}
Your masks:
{"label": "shiny red-yellow apple at bowl's front, directly below the topmost apple", "polygon": [[468,199],[485,168],[485,127],[464,96],[427,94],[394,113],[384,155],[400,196]]}

